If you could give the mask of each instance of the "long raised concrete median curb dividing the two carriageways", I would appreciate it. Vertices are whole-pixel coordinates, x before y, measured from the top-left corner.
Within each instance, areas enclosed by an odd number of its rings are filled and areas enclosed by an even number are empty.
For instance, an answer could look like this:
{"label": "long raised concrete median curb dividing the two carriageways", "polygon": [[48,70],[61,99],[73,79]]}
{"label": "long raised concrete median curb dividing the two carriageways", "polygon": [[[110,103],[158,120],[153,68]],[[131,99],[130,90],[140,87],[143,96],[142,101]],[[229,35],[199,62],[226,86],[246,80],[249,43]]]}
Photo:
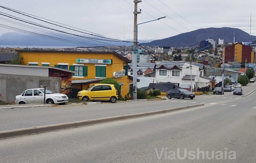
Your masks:
{"label": "long raised concrete median curb dividing the two carriageways", "polygon": [[89,120],[82,120],[82,121],[76,121],[76,122],[59,123],[59,124],[53,124],[53,125],[45,125],[45,126],[37,126],[37,127],[21,128],[21,129],[15,129],[15,130],[0,131],[0,139],[17,137],[17,136],[25,136],[25,135],[37,134],[37,133],[43,133],[43,132],[49,132],[49,131],[57,131],[57,130],[81,127],[81,126],[104,123],[104,122],[130,119],[130,118],[138,118],[138,117],[155,115],[155,114],[160,114],[160,113],[167,113],[167,112],[188,109],[188,108],[193,108],[193,107],[198,107],[198,106],[204,106],[204,104],[196,104],[196,105],[182,106],[182,107],[150,111],[150,112],[144,112],[144,113],[119,115],[119,116],[112,116],[112,117],[106,117],[106,118],[89,119]]}

